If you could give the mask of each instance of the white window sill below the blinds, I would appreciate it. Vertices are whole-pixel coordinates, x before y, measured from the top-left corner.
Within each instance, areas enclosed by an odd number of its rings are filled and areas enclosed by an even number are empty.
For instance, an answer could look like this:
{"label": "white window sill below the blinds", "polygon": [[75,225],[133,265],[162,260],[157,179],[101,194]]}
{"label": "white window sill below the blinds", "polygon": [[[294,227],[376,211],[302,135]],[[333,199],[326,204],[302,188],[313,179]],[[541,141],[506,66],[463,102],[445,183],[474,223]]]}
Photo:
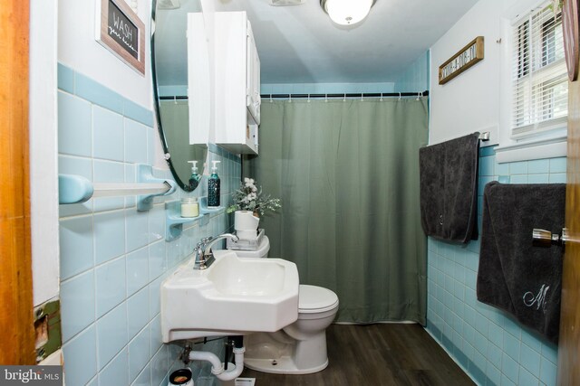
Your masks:
{"label": "white window sill below the blinds", "polygon": [[542,158],[554,158],[566,155],[566,136],[528,140],[507,146],[496,147],[498,164],[517,161],[530,161]]}

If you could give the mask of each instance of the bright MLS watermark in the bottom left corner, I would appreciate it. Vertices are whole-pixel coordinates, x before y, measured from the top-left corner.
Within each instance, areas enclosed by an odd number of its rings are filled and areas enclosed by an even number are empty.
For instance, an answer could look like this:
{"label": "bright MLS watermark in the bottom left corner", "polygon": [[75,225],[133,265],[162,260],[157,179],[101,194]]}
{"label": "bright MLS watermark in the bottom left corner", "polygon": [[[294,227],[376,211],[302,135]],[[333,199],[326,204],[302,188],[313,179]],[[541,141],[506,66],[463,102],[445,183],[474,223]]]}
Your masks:
{"label": "bright MLS watermark in the bottom left corner", "polygon": [[0,386],[63,386],[63,366],[0,366]]}

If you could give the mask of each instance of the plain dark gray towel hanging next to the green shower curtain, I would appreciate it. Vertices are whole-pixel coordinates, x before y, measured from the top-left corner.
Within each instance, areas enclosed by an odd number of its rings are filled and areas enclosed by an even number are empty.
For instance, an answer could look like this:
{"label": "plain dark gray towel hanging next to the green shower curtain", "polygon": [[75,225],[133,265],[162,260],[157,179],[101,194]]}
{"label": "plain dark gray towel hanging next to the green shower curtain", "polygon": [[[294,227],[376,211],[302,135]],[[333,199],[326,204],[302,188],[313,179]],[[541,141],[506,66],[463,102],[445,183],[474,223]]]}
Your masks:
{"label": "plain dark gray towel hanging next to the green shower curtain", "polygon": [[420,221],[427,236],[478,238],[478,153],[479,133],[420,148]]}

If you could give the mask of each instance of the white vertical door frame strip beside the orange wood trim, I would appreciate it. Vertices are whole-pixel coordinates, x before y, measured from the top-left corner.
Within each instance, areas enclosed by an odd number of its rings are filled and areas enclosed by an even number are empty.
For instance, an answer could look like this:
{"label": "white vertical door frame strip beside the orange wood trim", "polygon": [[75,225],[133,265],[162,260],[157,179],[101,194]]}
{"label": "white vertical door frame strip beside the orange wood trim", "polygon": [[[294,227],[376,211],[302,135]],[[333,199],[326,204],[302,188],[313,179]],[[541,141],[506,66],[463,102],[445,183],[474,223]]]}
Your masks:
{"label": "white vertical door frame strip beside the orange wood trim", "polygon": [[59,293],[57,5],[30,2],[30,205],[34,306]]}

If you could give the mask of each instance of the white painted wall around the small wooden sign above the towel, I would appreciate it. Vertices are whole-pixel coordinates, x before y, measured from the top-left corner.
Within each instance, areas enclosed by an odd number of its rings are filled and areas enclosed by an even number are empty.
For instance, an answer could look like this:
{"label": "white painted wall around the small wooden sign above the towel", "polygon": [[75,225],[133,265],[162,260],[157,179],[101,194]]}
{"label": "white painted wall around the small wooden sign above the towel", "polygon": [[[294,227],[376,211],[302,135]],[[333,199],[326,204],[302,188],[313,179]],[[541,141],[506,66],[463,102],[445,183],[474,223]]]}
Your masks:
{"label": "white painted wall around the small wooden sign above the towel", "polygon": [[[498,144],[500,121],[501,18],[517,0],[481,0],[430,49],[430,144],[475,131],[490,131]],[[444,85],[439,66],[477,36],[485,38],[484,60]]]}

